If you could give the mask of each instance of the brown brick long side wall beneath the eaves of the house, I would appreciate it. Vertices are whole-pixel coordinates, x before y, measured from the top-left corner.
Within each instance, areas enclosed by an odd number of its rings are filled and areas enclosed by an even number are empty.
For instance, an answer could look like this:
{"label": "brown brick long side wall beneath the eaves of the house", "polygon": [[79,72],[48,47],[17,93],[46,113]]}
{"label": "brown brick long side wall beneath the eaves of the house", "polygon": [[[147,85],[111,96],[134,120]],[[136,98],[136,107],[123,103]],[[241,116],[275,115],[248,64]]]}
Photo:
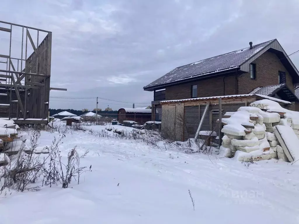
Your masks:
{"label": "brown brick long side wall beneath the eaves of the house", "polygon": [[236,94],[236,76],[225,76],[225,92],[223,77],[203,79],[167,87],[165,91],[166,100],[191,98],[191,85],[197,85],[197,97],[223,96]]}

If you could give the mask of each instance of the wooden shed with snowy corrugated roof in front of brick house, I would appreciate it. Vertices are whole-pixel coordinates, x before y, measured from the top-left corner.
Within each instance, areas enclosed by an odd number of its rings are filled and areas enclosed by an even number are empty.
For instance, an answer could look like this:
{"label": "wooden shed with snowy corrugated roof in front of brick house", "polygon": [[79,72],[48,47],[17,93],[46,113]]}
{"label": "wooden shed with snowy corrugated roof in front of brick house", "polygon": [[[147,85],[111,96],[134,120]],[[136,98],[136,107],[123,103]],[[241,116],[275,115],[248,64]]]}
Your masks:
{"label": "wooden shed with snowy corrugated roof in front of brick house", "polygon": [[243,94],[231,96],[212,96],[192,99],[161,101],[163,133],[168,133],[174,140],[185,141],[194,138],[205,107],[210,103],[203,120],[202,131],[219,133],[219,98],[221,98],[222,116],[226,112],[235,112],[242,106],[260,99],[270,99],[278,102],[283,108],[290,108],[291,102],[259,94]]}

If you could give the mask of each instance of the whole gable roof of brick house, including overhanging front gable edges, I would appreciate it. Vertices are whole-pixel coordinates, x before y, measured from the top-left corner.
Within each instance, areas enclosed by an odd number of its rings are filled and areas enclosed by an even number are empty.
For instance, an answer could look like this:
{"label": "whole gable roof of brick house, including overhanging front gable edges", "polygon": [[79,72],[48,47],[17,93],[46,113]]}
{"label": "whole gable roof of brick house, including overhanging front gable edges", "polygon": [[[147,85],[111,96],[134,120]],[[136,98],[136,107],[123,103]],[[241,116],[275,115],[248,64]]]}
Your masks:
{"label": "whole gable roof of brick house, including overhanging front gable edges", "polygon": [[[246,47],[235,50],[219,56],[203,59],[188,65],[177,67],[154,82],[144,87],[144,90],[152,91],[157,88],[164,88],[180,82],[186,82],[192,79],[209,77],[217,73],[232,72],[236,69],[248,72],[249,64],[259,57],[266,50],[274,49],[286,57],[286,62],[293,68],[299,80],[299,72],[293,65],[289,57],[287,57],[281,45],[276,39],[254,45],[252,49]],[[277,53],[277,52],[275,52]],[[280,57],[281,58],[281,57]]]}

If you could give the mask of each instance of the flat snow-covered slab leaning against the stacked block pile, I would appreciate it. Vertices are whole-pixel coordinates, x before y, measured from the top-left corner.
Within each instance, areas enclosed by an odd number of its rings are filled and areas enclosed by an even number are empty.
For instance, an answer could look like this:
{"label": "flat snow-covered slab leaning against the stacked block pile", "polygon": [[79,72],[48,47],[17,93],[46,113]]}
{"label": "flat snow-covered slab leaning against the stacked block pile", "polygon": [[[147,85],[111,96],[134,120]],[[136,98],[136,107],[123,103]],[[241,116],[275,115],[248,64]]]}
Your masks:
{"label": "flat snow-covered slab leaning against the stacked block pile", "polygon": [[[299,139],[289,126],[276,125],[275,136],[290,162],[299,159]],[[278,148],[277,148],[278,150]]]}

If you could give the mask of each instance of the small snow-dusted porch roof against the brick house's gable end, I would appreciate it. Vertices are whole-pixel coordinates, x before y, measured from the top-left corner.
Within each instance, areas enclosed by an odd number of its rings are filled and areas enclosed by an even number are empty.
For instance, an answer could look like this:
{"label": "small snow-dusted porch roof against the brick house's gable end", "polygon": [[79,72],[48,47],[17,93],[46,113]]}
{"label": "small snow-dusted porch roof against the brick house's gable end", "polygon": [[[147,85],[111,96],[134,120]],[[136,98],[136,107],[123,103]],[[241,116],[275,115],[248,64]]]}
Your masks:
{"label": "small snow-dusted porch roof against the brick house's gable end", "polygon": [[[296,91],[296,90],[295,90]],[[299,89],[298,89],[299,92]],[[278,85],[269,85],[269,86],[262,86],[254,89],[249,94],[260,94],[265,96],[271,96],[271,97],[280,97],[281,99],[288,100],[290,102],[298,102],[298,96],[294,94],[288,86],[284,84],[278,84]]]}

